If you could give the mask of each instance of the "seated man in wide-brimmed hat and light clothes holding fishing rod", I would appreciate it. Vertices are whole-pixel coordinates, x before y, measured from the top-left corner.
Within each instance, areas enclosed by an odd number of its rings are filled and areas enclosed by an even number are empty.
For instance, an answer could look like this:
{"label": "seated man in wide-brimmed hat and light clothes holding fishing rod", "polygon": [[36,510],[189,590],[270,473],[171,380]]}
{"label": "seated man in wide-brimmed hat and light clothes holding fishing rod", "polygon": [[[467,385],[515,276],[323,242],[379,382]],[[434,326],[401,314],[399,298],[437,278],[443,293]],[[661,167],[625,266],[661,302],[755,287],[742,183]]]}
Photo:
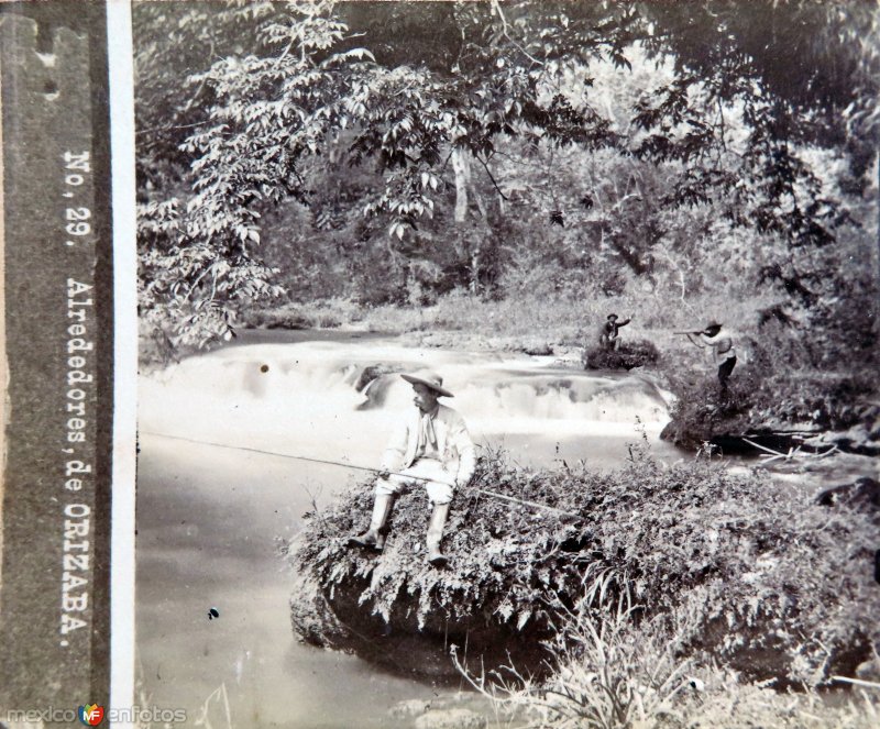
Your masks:
{"label": "seated man in wide-brimmed hat and light clothes holding fishing rod", "polygon": [[428,562],[442,566],[448,560],[440,552],[440,539],[449,505],[455,487],[471,481],[476,450],[462,417],[438,402],[439,397],[453,397],[440,375],[421,371],[402,377],[411,383],[416,393],[416,411],[397,429],[382,457],[383,473],[375,485],[370,529],[351,537],[349,544],[382,550],[394,496],[408,484],[424,484],[433,505],[428,526]]}

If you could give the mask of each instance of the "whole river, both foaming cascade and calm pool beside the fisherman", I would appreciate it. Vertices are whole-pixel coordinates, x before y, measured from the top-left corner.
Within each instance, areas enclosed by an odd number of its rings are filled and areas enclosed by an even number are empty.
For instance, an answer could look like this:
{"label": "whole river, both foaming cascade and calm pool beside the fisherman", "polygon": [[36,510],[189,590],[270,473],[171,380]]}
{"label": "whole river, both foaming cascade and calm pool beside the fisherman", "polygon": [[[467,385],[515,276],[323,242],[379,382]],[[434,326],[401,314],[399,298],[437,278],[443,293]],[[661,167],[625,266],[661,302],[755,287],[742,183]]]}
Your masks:
{"label": "whole river, both foaming cascade and calm pool beside the fisherman", "polygon": [[271,339],[140,382],[139,700],[185,708],[188,726],[207,713],[215,728],[391,727],[389,707],[439,691],[301,645],[290,630],[276,538],[363,473],[277,454],[377,465],[413,393],[395,375],[359,391],[364,368],[437,369],[475,441],[519,463],[612,468],[641,438],[659,457],[682,457],[658,440],[664,394],[638,375],[381,338]]}

